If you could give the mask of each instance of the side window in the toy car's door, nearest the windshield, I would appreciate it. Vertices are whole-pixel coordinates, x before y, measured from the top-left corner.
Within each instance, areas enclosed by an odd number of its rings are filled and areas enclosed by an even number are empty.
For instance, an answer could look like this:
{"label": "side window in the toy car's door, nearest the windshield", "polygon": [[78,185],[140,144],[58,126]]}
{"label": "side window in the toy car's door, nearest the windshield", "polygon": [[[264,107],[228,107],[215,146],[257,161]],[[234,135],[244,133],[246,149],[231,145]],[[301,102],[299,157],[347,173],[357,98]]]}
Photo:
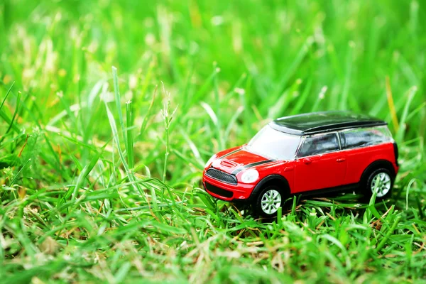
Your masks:
{"label": "side window in the toy car's door, nearest the windshield", "polygon": [[336,133],[329,133],[320,136],[308,136],[300,148],[298,157],[308,155],[319,155],[327,152],[339,150],[339,142]]}

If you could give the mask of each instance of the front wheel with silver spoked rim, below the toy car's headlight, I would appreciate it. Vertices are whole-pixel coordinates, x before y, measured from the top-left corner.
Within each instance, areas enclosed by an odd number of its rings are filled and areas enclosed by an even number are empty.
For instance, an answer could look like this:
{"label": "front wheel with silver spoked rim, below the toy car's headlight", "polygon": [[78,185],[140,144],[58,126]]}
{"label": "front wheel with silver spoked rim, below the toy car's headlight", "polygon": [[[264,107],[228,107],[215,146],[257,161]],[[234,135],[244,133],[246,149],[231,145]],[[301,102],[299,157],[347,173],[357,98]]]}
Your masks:
{"label": "front wheel with silver spoked rim, below the toy car's headlight", "polygon": [[284,196],[279,187],[270,185],[265,187],[256,198],[253,207],[262,217],[275,217],[278,208],[283,206]]}

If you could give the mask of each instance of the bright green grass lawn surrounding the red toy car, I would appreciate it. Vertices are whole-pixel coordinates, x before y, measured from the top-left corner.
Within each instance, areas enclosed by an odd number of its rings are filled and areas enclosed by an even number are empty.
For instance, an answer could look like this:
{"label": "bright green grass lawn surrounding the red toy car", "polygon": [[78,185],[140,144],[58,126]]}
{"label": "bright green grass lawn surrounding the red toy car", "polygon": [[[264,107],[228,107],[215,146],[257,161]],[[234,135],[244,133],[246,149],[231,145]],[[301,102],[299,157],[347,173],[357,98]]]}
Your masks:
{"label": "bright green grass lawn surrounding the red toy car", "polygon": [[[426,281],[425,17],[398,0],[0,1],[0,282]],[[263,222],[200,188],[213,153],[330,109],[388,121],[390,200],[294,200]]]}

